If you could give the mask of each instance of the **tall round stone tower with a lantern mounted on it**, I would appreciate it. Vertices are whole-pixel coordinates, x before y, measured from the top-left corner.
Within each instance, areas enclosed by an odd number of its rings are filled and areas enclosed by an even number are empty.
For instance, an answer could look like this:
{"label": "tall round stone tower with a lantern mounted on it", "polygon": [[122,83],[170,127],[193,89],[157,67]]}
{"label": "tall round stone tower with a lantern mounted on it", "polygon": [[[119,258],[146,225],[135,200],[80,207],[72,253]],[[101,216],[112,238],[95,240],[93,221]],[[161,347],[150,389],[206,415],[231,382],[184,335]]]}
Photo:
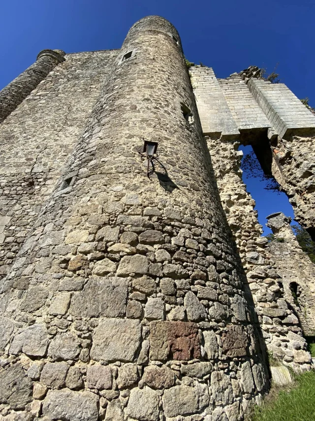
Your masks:
{"label": "tall round stone tower with a lantern mounted on it", "polygon": [[[150,177],[144,141],[158,143]],[[8,413],[237,420],[260,400],[266,368],[211,176],[180,37],[141,19],[2,284]]]}

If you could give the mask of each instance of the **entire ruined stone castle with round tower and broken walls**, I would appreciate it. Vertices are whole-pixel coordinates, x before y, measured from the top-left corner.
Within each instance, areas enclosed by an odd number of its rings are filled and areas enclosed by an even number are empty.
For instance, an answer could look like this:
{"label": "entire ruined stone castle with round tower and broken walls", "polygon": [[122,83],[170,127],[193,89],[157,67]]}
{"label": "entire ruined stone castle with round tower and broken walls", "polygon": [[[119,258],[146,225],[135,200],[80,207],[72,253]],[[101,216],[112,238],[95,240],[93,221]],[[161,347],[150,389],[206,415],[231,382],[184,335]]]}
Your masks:
{"label": "entire ruined stone castle with round tower and broken walls", "polygon": [[283,214],[262,237],[238,147],[314,238],[315,115],[260,76],[188,70],[148,16],[0,92],[0,420],[237,421],[268,353],[311,369],[314,265]]}

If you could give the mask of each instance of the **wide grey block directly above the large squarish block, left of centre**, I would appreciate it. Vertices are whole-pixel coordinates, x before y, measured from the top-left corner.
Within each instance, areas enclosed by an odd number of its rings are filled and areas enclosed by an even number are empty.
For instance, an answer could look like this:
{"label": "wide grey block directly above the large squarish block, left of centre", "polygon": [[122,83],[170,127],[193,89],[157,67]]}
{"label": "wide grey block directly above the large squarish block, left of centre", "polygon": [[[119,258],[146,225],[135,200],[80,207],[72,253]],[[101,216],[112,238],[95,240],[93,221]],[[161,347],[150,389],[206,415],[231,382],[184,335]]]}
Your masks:
{"label": "wide grey block directly above the large squarish block, left of centre", "polygon": [[123,278],[90,278],[83,291],[73,294],[70,313],[85,317],[119,317],[126,311],[128,281]]}

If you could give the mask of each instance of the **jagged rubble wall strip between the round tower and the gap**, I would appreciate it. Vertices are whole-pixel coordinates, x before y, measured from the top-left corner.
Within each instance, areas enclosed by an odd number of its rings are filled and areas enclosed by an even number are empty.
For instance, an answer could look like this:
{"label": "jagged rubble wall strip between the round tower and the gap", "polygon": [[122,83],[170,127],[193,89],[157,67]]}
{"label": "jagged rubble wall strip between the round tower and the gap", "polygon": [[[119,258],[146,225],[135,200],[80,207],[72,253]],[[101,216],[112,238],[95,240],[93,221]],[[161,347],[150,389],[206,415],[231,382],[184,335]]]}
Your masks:
{"label": "jagged rubble wall strip between the round tower and the gap", "polygon": [[[238,246],[267,349],[297,372],[310,368],[299,320],[285,300],[276,261],[261,237],[255,202],[242,180],[239,143],[206,137],[221,203]],[[250,292],[251,291],[251,292]]]}

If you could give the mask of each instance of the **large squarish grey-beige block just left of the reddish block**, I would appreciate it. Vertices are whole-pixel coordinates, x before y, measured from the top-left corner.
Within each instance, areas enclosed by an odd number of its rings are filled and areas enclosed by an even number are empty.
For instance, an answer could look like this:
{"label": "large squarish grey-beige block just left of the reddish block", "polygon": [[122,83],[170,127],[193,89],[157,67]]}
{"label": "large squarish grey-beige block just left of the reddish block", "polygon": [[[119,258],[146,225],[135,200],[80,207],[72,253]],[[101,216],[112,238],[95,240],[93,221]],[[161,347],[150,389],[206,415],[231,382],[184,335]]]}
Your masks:
{"label": "large squarish grey-beige block just left of the reddish block", "polygon": [[133,361],[140,336],[139,320],[103,319],[94,332],[91,357],[96,361]]}

